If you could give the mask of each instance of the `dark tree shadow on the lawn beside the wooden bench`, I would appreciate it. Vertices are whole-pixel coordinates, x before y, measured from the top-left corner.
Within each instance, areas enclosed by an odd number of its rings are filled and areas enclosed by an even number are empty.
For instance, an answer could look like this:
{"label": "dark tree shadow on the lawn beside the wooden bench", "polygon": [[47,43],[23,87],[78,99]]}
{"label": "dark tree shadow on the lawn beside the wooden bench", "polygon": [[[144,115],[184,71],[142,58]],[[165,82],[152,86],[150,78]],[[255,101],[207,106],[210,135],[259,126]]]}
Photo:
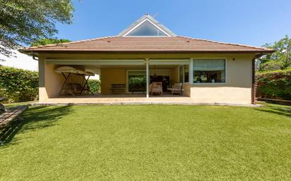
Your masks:
{"label": "dark tree shadow on the lawn beside the wooden bench", "polygon": [[30,107],[27,111],[20,115],[23,120],[15,120],[10,126],[6,127],[0,133],[0,141],[3,144],[11,143],[16,144],[14,136],[20,132],[28,132],[44,127],[56,125],[57,121],[71,112],[69,106],[45,107],[37,106]]}

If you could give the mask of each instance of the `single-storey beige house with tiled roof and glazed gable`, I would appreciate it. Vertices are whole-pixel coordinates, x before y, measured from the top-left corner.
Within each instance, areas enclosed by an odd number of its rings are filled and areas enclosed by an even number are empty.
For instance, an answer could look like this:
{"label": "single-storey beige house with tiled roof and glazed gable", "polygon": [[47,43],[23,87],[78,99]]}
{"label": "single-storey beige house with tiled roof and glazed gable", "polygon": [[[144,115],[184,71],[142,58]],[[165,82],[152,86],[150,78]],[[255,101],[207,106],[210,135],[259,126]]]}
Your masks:
{"label": "single-storey beige house with tiled roof and glazed gable", "polygon": [[[150,98],[160,96],[151,96],[153,82],[162,82],[164,94],[171,85],[181,82],[181,96],[192,101],[232,104],[254,104],[255,58],[273,52],[175,35],[148,14],[114,37],[34,46],[23,51],[38,57],[40,101],[60,96],[66,76],[56,70],[69,66],[98,73],[100,96],[120,93]],[[85,81],[83,77],[70,81],[81,80]]]}

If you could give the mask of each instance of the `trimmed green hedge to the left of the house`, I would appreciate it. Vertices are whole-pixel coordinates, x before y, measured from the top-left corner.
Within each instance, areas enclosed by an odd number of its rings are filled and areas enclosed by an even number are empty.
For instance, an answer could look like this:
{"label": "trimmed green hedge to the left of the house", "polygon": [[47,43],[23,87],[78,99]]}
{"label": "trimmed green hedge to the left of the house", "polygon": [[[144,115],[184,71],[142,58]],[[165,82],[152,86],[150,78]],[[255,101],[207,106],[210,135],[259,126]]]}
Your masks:
{"label": "trimmed green hedge to the left of the house", "polygon": [[4,103],[37,100],[38,73],[0,65],[0,96]]}

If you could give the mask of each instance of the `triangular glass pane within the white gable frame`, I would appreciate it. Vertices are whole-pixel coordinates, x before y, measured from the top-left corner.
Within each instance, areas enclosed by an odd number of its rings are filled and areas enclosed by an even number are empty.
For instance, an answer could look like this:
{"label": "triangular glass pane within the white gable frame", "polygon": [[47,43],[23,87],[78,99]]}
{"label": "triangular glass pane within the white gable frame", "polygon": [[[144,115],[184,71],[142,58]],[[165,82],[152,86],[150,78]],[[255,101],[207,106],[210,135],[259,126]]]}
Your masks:
{"label": "triangular glass pane within the white gable frame", "polygon": [[129,32],[126,36],[156,36],[156,37],[165,37],[168,36],[164,32],[158,29],[158,27],[155,27],[152,23],[150,23],[148,20],[145,20],[141,25],[136,27],[136,29],[133,29],[131,32]]}

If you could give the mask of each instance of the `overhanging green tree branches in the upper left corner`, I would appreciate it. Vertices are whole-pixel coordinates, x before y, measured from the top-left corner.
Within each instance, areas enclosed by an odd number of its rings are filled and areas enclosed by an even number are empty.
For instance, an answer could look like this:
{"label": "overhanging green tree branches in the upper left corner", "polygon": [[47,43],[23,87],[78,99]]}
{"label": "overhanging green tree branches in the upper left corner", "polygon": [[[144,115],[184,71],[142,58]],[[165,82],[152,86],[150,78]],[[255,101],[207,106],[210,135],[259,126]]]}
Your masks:
{"label": "overhanging green tree branches in the upper left corner", "polygon": [[11,49],[52,38],[55,23],[70,24],[71,0],[0,0],[0,53],[11,56]]}

